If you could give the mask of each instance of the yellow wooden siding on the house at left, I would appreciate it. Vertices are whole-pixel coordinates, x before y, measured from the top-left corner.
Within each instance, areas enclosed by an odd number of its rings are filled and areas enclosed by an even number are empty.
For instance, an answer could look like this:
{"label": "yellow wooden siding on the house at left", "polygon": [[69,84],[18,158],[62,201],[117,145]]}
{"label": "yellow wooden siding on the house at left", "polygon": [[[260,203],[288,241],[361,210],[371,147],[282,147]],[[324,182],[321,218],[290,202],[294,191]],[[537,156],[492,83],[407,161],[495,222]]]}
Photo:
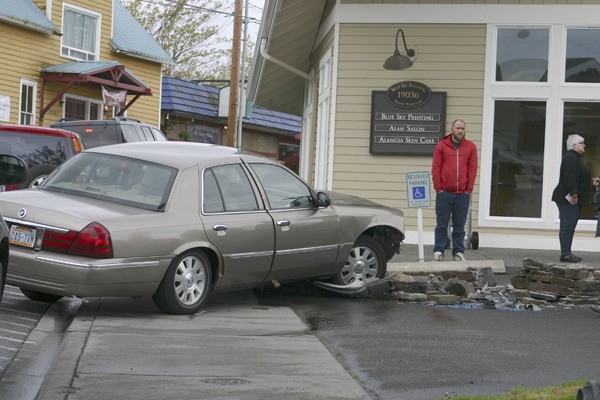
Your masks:
{"label": "yellow wooden siding on the house at left", "polygon": [[[160,123],[160,83],[161,64],[116,54],[110,50],[112,34],[112,5],[113,0],[77,0],[68,4],[101,14],[100,28],[100,61],[118,61],[148,85],[153,95],[141,96],[128,110],[128,117],[136,118],[159,126]],[[35,4],[45,7],[45,1]],[[52,2],[52,22],[62,30],[63,2]],[[0,94],[10,96],[10,122],[18,123],[20,80],[27,78],[38,83],[36,125],[39,124],[41,100],[41,69],[51,65],[73,61],[60,56],[61,40],[58,35],[46,35],[11,24],[0,23],[0,56],[3,59],[3,75],[0,78]],[[59,84],[49,84],[44,94],[47,104],[63,87]],[[102,99],[98,86],[73,87],[69,93],[92,99]],[[131,100],[128,96],[127,100]],[[44,126],[56,122],[62,117],[60,103],[48,111],[44,117]]]}

